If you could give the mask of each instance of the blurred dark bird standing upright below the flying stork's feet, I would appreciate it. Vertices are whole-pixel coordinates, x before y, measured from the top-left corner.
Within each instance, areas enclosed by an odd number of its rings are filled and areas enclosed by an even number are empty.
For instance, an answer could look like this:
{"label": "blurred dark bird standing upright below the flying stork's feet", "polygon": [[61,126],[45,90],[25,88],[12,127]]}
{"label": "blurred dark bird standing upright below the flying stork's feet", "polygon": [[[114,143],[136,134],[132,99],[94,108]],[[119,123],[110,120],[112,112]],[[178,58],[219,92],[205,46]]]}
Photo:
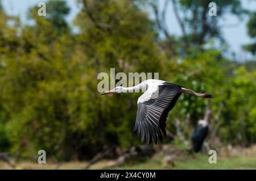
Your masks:
{"label": "blurred dark bird standing upright below the flying stork's feet", "polygon": [[192,134],[192,150],[195,152],[199,152],[202,149],[204,140],[209,133],[209,119],[211,115],[212,112],[210,110],[207,110],[205,112],[204,119],[198,121],[196,129]]}

